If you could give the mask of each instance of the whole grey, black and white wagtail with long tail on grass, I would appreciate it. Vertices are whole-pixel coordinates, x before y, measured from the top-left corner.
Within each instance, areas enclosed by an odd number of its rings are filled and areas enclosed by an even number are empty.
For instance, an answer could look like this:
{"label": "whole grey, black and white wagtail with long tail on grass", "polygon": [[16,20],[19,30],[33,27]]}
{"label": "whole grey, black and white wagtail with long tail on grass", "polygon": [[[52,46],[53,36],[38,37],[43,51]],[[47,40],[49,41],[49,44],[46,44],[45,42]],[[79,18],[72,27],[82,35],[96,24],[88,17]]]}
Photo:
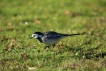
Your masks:
{"label": "whole grey, black and white wagtail with long tail on grass", "polygon": [[[84,33],[82,33],[84,34]],[[82,35],[82,34],[62,34],[57,33],[54,31],[48,31],[48,32],[35,32],[32,34],[31,38],[38,39],[41,43],[44,43],[46,45],[52,45],[55,46],[61,39],[67,37],[67,36],[73,36],[73,35]]]}

